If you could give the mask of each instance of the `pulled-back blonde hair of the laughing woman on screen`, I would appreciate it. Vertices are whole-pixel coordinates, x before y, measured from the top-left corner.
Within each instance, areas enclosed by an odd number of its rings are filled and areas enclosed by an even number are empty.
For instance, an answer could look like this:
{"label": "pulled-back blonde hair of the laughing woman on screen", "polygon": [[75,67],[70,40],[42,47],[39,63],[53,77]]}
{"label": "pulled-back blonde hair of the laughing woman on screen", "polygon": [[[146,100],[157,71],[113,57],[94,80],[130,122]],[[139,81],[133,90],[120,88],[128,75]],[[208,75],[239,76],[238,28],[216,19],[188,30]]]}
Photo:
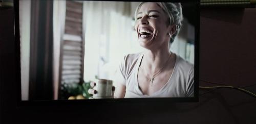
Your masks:
{"label": "pulled-back blonde hair of the laughing woman on screen", "polygon": [[[138,7],[135,10],[134,14],[134,19],[137,21],[137,14],[145,2],[141,2]],[[180,28],[182,26],[182,20],[183,20],[183,15],[182,15],[182,7],[180,3],[163,3],[163,2],[157,2],[156,3],[160,8],[163,9],[164,13],[167,14],[168,16],[168,21],[167,21],[167,26],[170,25],[176,25],[176,32],[173,34],[173,36],[170,38],[170,43],[173,43],[175,37],[178,35],[180,32]]]}

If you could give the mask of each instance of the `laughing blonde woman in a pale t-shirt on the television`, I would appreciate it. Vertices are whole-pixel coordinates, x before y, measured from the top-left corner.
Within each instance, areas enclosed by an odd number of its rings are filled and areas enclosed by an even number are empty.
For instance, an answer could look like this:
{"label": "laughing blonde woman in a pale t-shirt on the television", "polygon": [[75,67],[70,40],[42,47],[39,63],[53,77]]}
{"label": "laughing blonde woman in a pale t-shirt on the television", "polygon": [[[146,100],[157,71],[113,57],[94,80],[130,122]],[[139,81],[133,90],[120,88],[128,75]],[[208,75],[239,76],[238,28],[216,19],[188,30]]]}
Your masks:
{"label": "laughing blonde woman in a pale t-shirt on the television", "polygon": [[115,98],[193,97],[194,65],[170,52],[183,20],[181,4],[141,3],[135,11],[139,44],[117,71]]}

